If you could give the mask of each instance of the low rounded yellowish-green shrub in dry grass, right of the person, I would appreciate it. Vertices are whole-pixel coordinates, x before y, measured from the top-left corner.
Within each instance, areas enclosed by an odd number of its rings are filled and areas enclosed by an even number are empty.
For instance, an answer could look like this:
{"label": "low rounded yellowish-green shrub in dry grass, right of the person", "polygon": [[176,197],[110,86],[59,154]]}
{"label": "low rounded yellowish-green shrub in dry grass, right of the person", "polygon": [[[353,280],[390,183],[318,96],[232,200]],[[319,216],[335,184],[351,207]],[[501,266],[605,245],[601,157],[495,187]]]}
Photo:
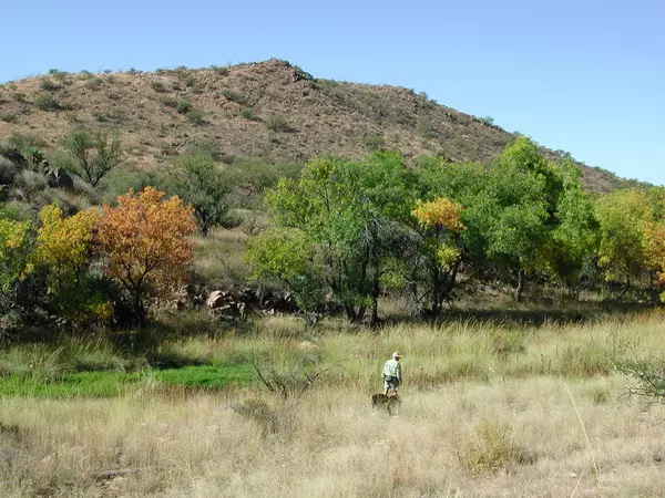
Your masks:
{"label": "low rounded yellowish-green shrub in dry grass, right of the person", "polygon": [[492,474],[532,461],[533,457],[519,445],[510,425],[494,419],[481,421],[473,437],[458,449],[460,466],[472,474]]}

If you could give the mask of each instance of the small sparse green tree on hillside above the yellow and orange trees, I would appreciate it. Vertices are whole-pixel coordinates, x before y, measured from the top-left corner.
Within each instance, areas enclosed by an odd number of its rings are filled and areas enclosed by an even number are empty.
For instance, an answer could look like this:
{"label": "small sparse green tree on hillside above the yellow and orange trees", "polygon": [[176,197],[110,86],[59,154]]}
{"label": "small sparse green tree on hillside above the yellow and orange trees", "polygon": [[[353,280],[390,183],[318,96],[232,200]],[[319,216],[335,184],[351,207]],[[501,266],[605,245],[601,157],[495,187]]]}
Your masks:
{"label": "small sparse green tree on hillside above the yellow and orange trees", "polygon": [[93,187],[122,160],[117,134],[78,129],[65,139],[65,147],[74,159],[74,170]]}

